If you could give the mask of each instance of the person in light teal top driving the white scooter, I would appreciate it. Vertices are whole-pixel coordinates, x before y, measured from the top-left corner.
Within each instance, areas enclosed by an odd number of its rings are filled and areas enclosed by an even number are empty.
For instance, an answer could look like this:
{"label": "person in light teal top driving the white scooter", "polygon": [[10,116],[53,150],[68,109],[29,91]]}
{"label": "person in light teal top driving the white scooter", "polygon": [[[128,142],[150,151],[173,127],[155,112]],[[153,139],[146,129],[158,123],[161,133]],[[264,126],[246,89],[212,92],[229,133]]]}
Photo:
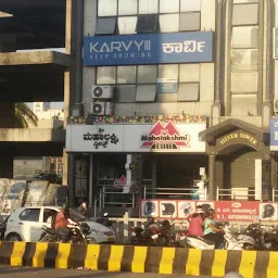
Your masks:
{"label": "person in light teal top driving the white scooter", "polygon": [[204,220],[204,239],[215,242],[216,249],[222,249],[224,236],[220,232],[223,229],[216,227],[214,216],[215,211],[213,208],[210,208],[207,211],[207,217]]}

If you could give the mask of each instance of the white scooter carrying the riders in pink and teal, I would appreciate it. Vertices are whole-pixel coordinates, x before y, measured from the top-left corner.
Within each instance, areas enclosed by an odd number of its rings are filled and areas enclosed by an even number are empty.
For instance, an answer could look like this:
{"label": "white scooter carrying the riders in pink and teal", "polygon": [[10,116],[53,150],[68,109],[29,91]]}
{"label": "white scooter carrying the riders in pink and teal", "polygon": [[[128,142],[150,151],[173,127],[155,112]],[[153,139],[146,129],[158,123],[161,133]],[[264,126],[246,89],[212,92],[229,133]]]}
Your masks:
{"label": "white scooter carrying the riders in pink and teal", "polygon": [[[224,224],[223,228],[224,235],[224,245],[223,249],[226,250],[243,250],[237,238],[231,231],[229,223]],[[185,235],[186,236],[186,235]],[[180,242],[185,247],[201,249],[201,250],[214,250],[215,243],[213,241],[206,240],[202,237],[186,236],[186,239]]]}

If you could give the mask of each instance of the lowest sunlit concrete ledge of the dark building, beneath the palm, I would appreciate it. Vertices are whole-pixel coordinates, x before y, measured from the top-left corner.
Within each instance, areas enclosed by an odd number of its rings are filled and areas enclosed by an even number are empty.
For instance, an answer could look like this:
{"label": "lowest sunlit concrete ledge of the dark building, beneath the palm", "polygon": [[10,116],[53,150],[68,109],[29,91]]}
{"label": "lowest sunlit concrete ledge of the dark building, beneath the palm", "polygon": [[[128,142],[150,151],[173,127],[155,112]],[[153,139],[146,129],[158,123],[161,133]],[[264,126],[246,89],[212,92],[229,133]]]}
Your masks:
{"label": "lowest sunlit concrete ledge of the dark building, beneath the palm", "polygon": [[62,128],[0,128],[0,142],[65,142]]}

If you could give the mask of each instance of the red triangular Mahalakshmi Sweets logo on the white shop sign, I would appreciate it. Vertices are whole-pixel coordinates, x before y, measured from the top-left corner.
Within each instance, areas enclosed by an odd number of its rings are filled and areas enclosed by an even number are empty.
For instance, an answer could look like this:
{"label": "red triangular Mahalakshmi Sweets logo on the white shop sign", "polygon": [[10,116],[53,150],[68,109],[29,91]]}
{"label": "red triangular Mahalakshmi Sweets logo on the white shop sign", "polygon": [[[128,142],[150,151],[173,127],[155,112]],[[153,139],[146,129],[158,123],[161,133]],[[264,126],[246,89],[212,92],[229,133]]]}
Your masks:
{"label": "red triangular Mahalakshmi Sweets logo on the white shop sign", "polygon": [[141,137],[141,148],[150,148],[151,150],[178,150],[190,147],[190,136],[180,135],[172,122],[165,125],[157,122],[149,135]]}

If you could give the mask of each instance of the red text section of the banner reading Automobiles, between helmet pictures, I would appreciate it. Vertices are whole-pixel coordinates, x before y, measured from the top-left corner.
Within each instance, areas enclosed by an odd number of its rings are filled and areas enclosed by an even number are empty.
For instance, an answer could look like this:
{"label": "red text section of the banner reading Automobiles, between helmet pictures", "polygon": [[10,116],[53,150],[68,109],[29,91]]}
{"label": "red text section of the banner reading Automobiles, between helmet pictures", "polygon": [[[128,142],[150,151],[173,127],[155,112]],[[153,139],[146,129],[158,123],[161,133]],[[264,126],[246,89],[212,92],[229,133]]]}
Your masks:
{"label": "red text section of the banner reading Automobiles, between helmet pictures", "polygon": [[215,219],[230,222],[250,222],[260,216],[260,202],[218,201],[215,204]]}

